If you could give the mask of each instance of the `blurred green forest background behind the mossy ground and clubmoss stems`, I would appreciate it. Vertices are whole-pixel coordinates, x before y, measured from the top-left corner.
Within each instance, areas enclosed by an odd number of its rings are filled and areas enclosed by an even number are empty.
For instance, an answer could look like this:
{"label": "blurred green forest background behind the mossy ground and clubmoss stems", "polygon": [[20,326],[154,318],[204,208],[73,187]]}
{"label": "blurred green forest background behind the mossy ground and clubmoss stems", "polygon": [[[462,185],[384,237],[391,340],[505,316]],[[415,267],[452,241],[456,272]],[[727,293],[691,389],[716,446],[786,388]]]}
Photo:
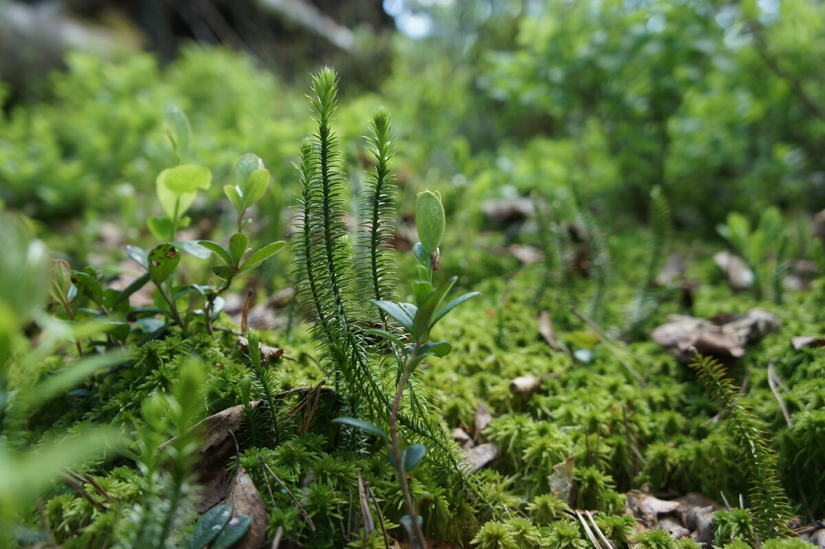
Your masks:
{"label": "blurred green forest background behind the mossy ground and clubmoss stems", "polygon": [[[731,210],[825,205],[823,29],[813,0],[0,2],[0,199],[53,228],[143,226],[174,104],[210,198],[240,154],[264,159],[282,234],[308,74],[334,64],[342,143],[383,103],[400,184],[468,223],[531,190],[641,219],[662,185],[710,234]],[[219,219],[211,204],[193,218]]]}

